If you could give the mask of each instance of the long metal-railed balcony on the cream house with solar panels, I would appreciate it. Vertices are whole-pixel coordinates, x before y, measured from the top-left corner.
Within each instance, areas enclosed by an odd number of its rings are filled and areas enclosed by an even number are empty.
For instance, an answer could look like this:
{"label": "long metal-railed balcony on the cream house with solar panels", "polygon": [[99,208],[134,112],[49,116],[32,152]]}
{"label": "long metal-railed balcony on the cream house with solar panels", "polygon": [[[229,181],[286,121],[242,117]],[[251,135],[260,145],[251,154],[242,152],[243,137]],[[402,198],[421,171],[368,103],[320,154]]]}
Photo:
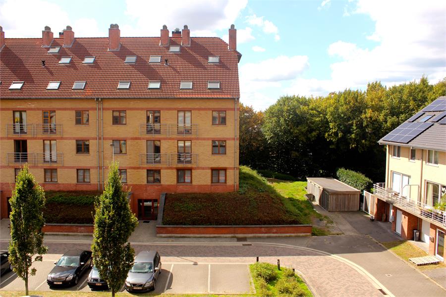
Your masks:
{"label": "long metal-railed balcony on the cream house with solar panels", "polygon": [[422,219],[426,219],[436,225],[446,227],[446,211],[435,209],[434,207],[424,204],[420,201],[414,201],[407,197],[392,191],[386,187],[385,183],[377,183],[373,185],[373,194],[380,199],[395,204],[401,209],[410,212]]}

